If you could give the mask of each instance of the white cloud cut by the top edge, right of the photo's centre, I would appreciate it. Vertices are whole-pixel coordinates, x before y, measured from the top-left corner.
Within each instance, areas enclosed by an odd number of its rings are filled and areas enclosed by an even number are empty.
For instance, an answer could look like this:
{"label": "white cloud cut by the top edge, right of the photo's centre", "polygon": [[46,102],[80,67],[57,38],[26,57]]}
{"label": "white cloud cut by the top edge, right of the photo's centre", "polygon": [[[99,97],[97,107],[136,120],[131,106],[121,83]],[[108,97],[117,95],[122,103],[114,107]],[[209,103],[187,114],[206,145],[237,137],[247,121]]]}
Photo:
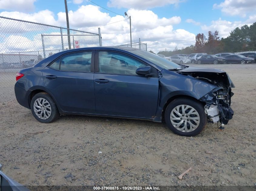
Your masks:
{"label": "white cloud cut by the top edge, right of the photo's centre", "polygon": [[148,9],[154,7],[162,7],[165,5],[178,5],[181,0],[109,0],[107,3],[108,7],[117,7],[117,8],[135,8],[135,9]]}

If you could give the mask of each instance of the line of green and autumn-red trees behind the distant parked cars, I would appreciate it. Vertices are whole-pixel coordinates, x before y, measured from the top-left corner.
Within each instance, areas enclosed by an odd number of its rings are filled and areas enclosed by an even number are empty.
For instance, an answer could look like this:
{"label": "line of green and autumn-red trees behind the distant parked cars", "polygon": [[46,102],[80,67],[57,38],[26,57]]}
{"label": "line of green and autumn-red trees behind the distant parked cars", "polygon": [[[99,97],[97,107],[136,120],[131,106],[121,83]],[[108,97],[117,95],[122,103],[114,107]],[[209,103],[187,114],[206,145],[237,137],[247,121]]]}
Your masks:
{"label": "line of green and autumn-red trees behind the distant parked cars", "polygon": [[191,53],[208,53],[217,54],[221,52],[245,52],[256,51],[256,22],[250,27],[244,25],[237,27],[231,31],[226,38],[219,37],[219,32],[208,31],[208,37],[204,33],[196,35],[194,45],[186,48],[178,49],[177,46],[173,51],[160,51],[158,54],[172,56],[175,54],[191,54]]}

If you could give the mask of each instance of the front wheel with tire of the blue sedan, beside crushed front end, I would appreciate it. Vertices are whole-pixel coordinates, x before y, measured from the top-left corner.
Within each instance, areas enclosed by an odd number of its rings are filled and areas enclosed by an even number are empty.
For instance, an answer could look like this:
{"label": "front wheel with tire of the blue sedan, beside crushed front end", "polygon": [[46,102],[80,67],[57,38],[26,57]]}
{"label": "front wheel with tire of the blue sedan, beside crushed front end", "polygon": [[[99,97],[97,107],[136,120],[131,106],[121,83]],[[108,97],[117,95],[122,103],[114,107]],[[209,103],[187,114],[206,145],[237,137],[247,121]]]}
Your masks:
{"label": "front wheel with tire of the blue sedan, beside crushed front end", "polygon": [[173,100],[165,110],[165,122],[177,135],[198,135],[207,123],[204,106],[188,98]]}

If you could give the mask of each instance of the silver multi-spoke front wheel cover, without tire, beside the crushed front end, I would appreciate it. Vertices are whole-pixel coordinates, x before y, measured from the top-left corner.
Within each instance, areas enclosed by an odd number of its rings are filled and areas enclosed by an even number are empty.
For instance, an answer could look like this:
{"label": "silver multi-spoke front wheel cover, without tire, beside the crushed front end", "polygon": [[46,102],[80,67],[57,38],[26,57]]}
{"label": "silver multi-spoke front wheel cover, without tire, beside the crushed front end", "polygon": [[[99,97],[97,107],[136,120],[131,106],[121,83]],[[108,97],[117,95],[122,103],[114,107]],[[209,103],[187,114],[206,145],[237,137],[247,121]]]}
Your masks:
{"label": "silver multi-spoke front wheel cover, without tire, beside the crushed front end", "polygon": [[171,110],[171,124],[181,132],[192,132],[198,128],[200,116],[193,107],[189,105],[178,105]]}

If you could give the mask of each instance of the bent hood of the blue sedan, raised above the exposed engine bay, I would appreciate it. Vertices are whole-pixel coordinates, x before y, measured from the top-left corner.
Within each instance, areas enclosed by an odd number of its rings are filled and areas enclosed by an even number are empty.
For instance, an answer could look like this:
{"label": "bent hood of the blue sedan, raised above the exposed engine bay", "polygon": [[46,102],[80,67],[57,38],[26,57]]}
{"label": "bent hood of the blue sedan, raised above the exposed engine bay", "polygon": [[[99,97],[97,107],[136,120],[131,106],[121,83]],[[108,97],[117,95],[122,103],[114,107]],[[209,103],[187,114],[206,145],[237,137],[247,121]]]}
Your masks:
{"label": "bent hood of the blue sedan, raised above the exposed engine bay", "polygon": [[226,78],[228,78],[228,82],[229,82],[229,87],[234,88],[234,84],[232,82],[232,80],[230,79],[230,77],[228,76],[227,72],[220,70],[220,69],[215,69],[215,68],[196,68],[196,67],[189,67],[189,68],[185,68],[184,70],[180,70],[178,72],[181,73],[216,73],[216,74],[223,74],[224,76],[226,76]]}

